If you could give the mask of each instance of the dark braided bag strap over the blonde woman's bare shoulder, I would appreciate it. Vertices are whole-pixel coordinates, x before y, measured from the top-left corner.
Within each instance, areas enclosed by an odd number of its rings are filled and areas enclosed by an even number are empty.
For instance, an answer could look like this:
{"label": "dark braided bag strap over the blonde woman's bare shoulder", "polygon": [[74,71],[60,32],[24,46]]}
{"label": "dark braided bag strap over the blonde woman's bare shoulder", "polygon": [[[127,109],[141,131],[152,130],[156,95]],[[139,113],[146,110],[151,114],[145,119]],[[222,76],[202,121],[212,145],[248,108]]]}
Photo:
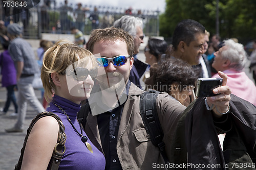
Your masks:
{"label": "dark braided bag strap over the blonde woman's bare shoulder", "polygon": [[45,111],[45,112],[41,112],[41,113],[37,114],[37,116],[30,123],[29,128],[27,130],[27,135],[26,135],[24,143],[23,143],[23,148],[20,151],[21,154],[20,154],[18,163],[15,165],[15,170],[20,169],[22,167],[22,161],[23,161],[23,155],[24,155],[26,143],[27,143],[29,134],[30,134],[33,126],[35,125],[37,120],[39,120],[40,118],[45,117],[45,116],[54,117],[59,124],[58,141],[54,147],[52,158],[51,158],[50,164],[49,164],[49,167],[51,170],[58,169],[60,160],[62,159],[62,156],[66,151],[65,142],[66,142],[67,136],[65,133],[65,126],[62,124],[59,116],[57,116],[56,114],[54,114],[52,112]]}

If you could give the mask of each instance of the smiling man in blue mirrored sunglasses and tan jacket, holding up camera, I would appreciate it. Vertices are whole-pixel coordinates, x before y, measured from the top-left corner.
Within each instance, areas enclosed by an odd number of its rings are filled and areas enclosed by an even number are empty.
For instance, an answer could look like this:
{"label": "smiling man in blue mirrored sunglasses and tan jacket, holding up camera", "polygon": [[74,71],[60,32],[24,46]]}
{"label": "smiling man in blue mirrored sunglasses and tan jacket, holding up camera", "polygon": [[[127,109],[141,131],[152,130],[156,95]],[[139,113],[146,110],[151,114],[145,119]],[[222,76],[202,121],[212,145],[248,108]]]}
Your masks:
{"label": "smiling man in blue mirrored sunglasses and tan jacket, holding up camera", "polygon": [[[134,63],[133,41],[129,33],[111,27],[93,30],[88,43],[89,51],[97,56],[99,69],[96,80],[100,90],[91,93],[88,103],[78,115],[86,115],[84,129],[94,145],[104,153],[105,169],[152,169],[154,165],[164,165],[160,151],[151,142],[140,115],[140,94],[144,91],[129,80]],[[225,86],[226,76],[220,76],[223,86],[216,88],[215,93],[222,94],[205,101],[207,107],[215,105],[209,115],[225,117],[227,114],[223,116],[222,113],[229,111],[230,90]],[[88,105],[90,109],[84,111]],[[203,107],[206,107],[205,103]],[[163,93],[156,99],[156,108],[164,132],[165,150],[170,159],[170,143],[186,107]]]}

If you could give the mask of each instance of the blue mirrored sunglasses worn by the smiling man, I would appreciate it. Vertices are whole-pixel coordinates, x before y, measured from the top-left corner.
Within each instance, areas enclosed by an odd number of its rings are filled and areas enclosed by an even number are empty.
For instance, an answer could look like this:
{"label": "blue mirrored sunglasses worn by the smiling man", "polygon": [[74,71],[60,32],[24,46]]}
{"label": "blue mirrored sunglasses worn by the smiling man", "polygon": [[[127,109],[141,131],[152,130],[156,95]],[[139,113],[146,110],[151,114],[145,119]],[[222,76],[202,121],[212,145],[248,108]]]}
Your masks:
{"label": "blue mirrored sunglasses worn by the smiling man", "polygon": [[113,58],[108,58],[108,57],[96,57],[96,60],[98,61],[98,65],[101,67],[107,67],[110,62],[114,64],[114,66],[120,66],[123,65],[127,62],[127,58],[130,56],[116,56]]}

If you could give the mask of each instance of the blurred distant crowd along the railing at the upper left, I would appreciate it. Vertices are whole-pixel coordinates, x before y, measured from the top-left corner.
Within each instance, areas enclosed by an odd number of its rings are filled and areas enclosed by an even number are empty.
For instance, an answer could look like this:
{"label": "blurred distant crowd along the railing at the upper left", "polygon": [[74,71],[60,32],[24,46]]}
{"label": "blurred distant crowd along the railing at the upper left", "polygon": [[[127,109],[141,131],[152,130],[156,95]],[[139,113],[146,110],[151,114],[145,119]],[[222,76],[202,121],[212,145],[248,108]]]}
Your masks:
{"label": "blurred distant crowd along the railing at the upper left", "polygon": [[[113,22],[120,15],[137,15],[144,17],[141,10],[135,13],[132,12],[130,7],[127,10],[123,9],[123,12],[114,9],[114,7],[102,7],[102,6],[87,6],[83,2],[74,3],[68,0],[62,0],[58,2],[60,4],[56,5],[56,2],[50,0],[41,1],[36,8],[36,14],[38,18],[35,18],[34,11],[31,10],[21,10],[17,7],[12,7],[6,9],[0,7],[0,20],[5,20],[5,25],[9,23],[21,23],[24,26],[24,35],[26,37],[30,36],[29,30],[33,27],[32,22],[38,23],[38,31],[42,33],[61,33],[70,34],[70,29],[75,27],[83,34],[90,32],[92,29],[96,28],[106,28],[113,25]],[[100,9],[100,7],[102,7]],[[105,10],[107,9],[108,10]],[[54,13],[54,16],[53,16]],[[33,20],[33,21],[32,21]]]}

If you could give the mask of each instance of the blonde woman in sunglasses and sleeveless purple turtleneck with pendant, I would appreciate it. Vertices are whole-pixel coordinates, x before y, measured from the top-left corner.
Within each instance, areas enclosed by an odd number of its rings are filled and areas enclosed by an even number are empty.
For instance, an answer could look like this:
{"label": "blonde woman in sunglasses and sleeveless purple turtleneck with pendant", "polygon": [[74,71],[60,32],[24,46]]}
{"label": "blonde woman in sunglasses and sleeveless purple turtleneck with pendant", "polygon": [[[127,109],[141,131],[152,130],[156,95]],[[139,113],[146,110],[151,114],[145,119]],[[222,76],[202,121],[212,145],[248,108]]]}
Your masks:
{"label": "blonde woman in sunglasses and sleeveless purple turtleneck with pendant", "polygon": [[[60,40],[44,56],[41,79],[50,106],[65,126],[66,152],[59,169],[104,169],[105,158],[78,123],[80,103],[90,96],[97,76],[97,63],[91,52]],[[54,95],[53,95],[54,94]],[[53,97],[52,97],[53,96]],[[55,118],[40,118],[29,134],[22,169],[47,169],[57,142],[59,125]],[[87,147],[84,139],[91,145]]]}

